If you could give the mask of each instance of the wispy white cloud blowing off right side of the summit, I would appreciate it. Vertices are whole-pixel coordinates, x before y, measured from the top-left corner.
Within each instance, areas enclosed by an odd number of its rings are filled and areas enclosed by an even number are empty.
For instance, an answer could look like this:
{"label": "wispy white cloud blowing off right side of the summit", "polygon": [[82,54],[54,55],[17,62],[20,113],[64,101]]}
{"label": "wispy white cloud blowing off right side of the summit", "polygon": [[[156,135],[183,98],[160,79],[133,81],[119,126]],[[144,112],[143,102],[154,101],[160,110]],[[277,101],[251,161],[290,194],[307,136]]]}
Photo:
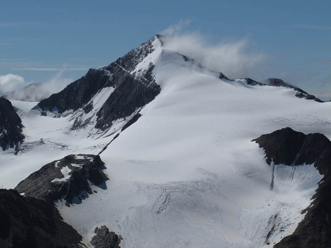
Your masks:
{"label": "wispy white cloud blowing off right side of the summit", "polygon": [[[230,78],[247,77],[265,59],[262,53],[249,52],[248,39],[210,44],[198,32],[182,33],[184,26],[181,21],[165,30],[164,47],[194,58],[210,70],[223,72]],[[166,32],[172,35],[167,36]]]}

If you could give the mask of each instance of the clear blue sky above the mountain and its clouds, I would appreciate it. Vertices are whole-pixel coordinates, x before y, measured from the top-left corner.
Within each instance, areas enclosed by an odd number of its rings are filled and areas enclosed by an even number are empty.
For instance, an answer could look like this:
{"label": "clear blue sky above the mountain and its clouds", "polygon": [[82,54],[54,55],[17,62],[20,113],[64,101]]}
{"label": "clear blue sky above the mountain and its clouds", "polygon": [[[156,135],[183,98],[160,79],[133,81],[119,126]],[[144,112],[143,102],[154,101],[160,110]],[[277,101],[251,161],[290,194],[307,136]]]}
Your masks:
{"label": "clear blue sky above the mountain and its clouds", "polygon": [[0,76],[75,80],[185,23],[176,35],[210,49],[244,41],[246,59],[261,55],[231,76],[278,77],[331,99],[330,13],[331,1],[2,1]]}

